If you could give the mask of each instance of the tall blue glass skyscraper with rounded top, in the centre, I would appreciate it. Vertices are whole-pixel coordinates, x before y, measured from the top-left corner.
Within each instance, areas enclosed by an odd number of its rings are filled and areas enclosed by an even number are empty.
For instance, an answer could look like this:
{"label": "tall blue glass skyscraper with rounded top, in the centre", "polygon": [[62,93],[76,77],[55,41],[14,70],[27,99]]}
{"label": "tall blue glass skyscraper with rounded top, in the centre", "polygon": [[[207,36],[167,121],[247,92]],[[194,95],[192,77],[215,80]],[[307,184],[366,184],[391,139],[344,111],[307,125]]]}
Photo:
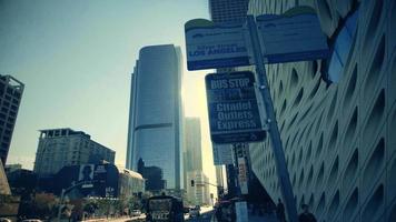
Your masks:
{"label": "tall blue glass skyscraper with rounded top, in the centre", "polygon": [[172,44],[145,47],[131,75],[127,169],[164,172],[167,189],[184,188],[181,161],[181,51]]}

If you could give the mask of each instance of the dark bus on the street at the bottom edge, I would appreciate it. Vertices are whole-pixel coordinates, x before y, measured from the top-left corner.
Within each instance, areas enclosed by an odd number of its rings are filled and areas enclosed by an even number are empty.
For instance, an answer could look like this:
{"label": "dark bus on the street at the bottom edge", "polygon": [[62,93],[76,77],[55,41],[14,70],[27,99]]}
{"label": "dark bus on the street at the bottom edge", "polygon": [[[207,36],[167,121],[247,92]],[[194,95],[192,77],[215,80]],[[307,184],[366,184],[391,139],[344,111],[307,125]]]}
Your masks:
{"label": "dark bus on the street at the bottom edge", "polygon": [[151,196],[146,205],[148,222],[184,222],[182,201],[171,195]]}

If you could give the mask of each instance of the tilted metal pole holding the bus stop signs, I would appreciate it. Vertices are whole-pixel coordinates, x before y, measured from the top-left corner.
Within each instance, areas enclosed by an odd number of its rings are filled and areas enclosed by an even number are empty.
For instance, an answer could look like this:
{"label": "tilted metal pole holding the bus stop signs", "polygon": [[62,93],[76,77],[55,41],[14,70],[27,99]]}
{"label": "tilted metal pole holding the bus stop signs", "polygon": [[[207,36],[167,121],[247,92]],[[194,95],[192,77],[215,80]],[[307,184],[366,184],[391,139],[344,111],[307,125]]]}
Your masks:
{"label": "tilted metal pole holding the bus stop signs", "polygon": [[294,200],[293,188],[290,183],[289,173],[287,171],[287,165],[285,161],[285,153],[280,140],[280,133],[278,124],[276,121],[274,104],[270,98],[268,79],[266,75],[266,69],[264,65],[264,57],[261,53],[261,47],[258,39],[257,26],[255,18],[253,16],[247,17],[247,27],[249,30],[249,38],[253,47],[254,59],[256,63],[256,75],[258,81],[259,91],[263,97],[264,107],[267,113],[267,124],[269,127],[269,137],[273,142],[273,152],[275,158],[275,163],[277,168],[279,186],[284,201],[286,202],[286,211],[289,218],[289,221],[297,222],[297,208],[296,201]]}

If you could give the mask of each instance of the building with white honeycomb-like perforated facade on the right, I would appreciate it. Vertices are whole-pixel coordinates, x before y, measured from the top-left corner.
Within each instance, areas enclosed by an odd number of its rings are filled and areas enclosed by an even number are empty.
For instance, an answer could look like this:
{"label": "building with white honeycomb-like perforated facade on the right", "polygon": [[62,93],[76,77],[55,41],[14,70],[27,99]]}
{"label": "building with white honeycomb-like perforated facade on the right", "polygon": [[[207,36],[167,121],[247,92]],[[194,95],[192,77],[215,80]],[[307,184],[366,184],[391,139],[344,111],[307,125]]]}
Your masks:
{"label": "building with white honeycomb-like perforated facade on the right", "polygon": [[[249,13],[309,6],[327,60],[267,67],[293,191],[318,221],[396,221],[396,1],[250,0]],[[250,147],[254,172],[280,196],[270,142]]]}

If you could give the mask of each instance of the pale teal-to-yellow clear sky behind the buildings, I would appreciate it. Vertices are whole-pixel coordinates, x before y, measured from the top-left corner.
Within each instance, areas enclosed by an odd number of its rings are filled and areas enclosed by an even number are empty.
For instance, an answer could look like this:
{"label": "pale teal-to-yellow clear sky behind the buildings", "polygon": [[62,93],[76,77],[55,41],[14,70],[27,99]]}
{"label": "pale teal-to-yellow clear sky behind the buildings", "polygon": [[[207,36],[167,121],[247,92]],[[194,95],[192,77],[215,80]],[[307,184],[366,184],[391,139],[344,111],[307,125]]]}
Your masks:
{"label": "pale teal-to-yellow clear sky behind the buildings", "polygon": [[[206,0],[0,0],[0,74],[24,83],[7,163],[32,169],[39,130],[71,128],[125,165],[139,50],[172,43],[185,52],[184,23],[196,18],[209,18]],[[202,119],[204,170],[212,172],[204,87],[210,71],[184,67],[186,114]]]}

